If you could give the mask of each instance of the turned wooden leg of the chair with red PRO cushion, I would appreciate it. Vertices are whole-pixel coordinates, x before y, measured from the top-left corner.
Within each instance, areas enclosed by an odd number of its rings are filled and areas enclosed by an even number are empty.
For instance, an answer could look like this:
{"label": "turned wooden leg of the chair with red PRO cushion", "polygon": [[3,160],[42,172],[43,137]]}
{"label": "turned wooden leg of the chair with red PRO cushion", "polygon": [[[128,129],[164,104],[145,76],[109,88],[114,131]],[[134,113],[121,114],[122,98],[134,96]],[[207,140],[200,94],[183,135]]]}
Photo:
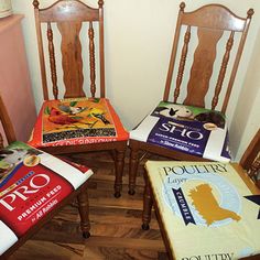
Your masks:
{"label": "turned wooden leg of the chair with red PRO cushion", "polygon": [[80,216],[80,229],[84,238],[90,237],[90,223],[89,223],[89,204],[87,188],[84,188],[77,196],[78,210]]}

